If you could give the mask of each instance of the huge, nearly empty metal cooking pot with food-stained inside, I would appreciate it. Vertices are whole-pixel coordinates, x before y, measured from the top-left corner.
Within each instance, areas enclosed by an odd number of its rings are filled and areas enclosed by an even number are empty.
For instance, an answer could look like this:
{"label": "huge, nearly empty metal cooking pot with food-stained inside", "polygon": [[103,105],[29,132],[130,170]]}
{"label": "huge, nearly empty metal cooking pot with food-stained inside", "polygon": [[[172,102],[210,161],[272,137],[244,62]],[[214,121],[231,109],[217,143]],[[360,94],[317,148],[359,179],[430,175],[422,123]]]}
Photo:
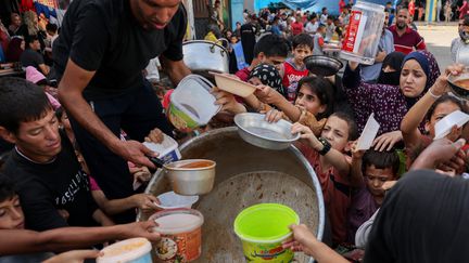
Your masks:
{"label": "huge, nearly empty metal cooking pot with food-stained inside", "polygon": [[[244,142],[238,128],[213,130],[194,137],[179,149],[183,158],[204,158],[217,162],[213,190],[200,196],[193,206],[202,212],[202,255],[195,262],[244,262],[241,241],[233,232],[233,222],[246,207],[277,202],[291,207],[301,223],[322,238],[325,206],[322,193],[309,162],[294,147],[270,150]],[[153,176],[145,193],[155,196],[170,190],[162,172]],[[147,220],[148,214],[139,214]],[[154,258],[155,259],[155,258]],[[295,262],[313,262],[303,253]]]}

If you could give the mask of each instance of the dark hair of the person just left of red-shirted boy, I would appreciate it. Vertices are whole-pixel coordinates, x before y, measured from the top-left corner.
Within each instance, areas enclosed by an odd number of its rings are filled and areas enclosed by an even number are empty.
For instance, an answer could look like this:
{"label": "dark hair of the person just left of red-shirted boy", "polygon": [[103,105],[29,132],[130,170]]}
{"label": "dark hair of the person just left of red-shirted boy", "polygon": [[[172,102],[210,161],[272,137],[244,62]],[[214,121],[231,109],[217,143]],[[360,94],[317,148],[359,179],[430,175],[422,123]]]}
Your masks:
{"label": "dark hair of the person just left of red-shirted boy", "polygon": [[261,52],[266,56],[288,56],[289,45],[284,38],[269,34],[262,37],[254,45],[254,56]]}

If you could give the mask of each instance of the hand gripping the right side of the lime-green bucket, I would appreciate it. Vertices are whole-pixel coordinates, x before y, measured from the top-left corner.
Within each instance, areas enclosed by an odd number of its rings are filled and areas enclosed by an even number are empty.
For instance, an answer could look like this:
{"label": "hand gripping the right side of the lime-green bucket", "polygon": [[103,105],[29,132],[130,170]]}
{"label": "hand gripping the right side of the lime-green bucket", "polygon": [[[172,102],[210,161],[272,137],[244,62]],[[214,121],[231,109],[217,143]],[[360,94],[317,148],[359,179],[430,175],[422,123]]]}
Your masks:
{"label": "hand gripping the right side of the lime-green bucket", "polygon": [[290,228],[293,231],[293,238],[284,241],[282,247],[286,249],[291,249],[294,252],[301,251],[307,255],[312,255],[313,251],[309,249],[310,244],[317,241],[313,233],[304,224],[293,224],[290,225]]}

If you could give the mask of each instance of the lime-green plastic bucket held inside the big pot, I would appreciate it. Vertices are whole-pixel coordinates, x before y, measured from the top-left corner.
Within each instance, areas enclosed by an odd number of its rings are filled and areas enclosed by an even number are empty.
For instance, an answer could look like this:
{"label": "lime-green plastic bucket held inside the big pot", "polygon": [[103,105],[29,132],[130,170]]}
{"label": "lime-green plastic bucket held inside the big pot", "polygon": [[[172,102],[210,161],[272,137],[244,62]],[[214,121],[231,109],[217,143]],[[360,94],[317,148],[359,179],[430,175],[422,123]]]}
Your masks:
{"label": "lime-green plastic bucket held inside the big pot", "polygon": [[293,251],[282,248],[300,218],[293,209],[279,203],[261,203],[241,211],[234,220],[234,233],[241,239],[248,262],[291,262]]}

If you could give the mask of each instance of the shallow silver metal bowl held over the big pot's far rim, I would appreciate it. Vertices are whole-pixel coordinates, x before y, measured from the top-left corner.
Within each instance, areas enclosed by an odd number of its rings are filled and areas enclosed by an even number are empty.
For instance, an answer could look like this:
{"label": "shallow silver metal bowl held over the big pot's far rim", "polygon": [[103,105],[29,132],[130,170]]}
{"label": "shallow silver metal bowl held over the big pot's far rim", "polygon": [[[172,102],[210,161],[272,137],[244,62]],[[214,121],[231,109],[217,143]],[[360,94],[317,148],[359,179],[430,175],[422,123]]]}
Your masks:
{"label": "shallow silver metal bowl held over the big pot's far rim", "polygon": [[267,149],[286,149],[300,139],[291,134],[292,124],[287,120],[269,123],[263,114],[239,114],[234,116],[240,136],[248,143]]}

